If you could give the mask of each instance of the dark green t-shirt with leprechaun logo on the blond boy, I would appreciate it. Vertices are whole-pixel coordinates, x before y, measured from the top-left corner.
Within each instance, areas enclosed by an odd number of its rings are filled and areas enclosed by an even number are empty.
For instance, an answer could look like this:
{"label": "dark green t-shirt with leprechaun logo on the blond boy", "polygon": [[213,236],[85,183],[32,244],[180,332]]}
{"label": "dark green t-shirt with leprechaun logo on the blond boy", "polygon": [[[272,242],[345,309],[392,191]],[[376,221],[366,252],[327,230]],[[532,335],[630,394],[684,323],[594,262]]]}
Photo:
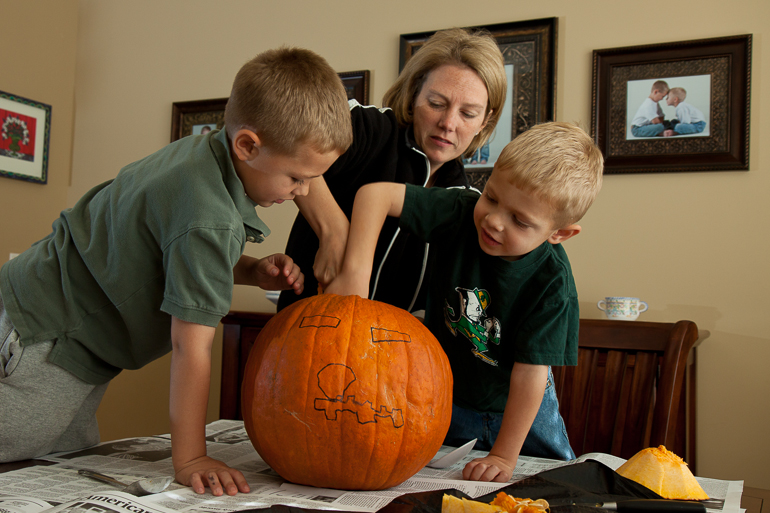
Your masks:
{"label": "dark green t-shirt with leprechaun logo on the blond boy", "polygon": [[400,226],[438,255],[425,324],[441,342],[454,375],[454,402],[502,413],[514,362],[576,365],[577,290],[560,244],[543,243],[510,262],[478,243],[469,189],[407,185]]}

